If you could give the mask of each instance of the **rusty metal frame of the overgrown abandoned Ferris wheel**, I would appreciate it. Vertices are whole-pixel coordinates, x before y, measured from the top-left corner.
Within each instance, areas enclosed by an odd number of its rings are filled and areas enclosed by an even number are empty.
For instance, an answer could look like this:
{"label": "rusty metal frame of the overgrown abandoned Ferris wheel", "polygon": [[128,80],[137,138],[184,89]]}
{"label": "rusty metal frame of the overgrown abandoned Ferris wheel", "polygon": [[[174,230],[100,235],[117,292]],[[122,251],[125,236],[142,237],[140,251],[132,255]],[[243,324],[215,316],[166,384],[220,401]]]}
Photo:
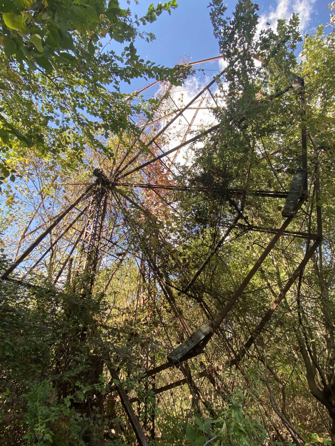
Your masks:
{"label": "rusty metal frame of the overgrown abandoned Ferris wheel", "polygon": [[[204,59],[202,61],[198,62],[190,62],[189,65],[197,65],[204,62],[210,62],[214,60],[218,60],[223,58],[222,56]],[[72,243],[71,248],[69,251],[67,251],[66,259],[63,261],[63,264],[59,268],[59,271],[54,278],[54,284],[56,284],[60,277],[62,277],[63,271],[67,263],[70,261],[72,254],[75,252],[76,249],[81,249],[81,255],[79,260],[79,266],[77,266],[77,271],[89,271],[89,277],[88,277],[88,283],[87,287],[92,293],[93,285],[94,285],[94,279],[95,275],[97,273],[97,267],[98,267],[98,256],[100,254],[101,249],[101,240],[106,239],[106,237],[103,237],[102,235],[102,227],[104,223],[104,218],[106,215],[106,207],[108,206],[108,197],[110,194],[114,195],[115,201],[117,202],[118,198],[117,195],[122,196],[121,190],[119,188],[130,188],[130,189],[136,189],[136,190],[151,190],[153,191],[156,196],[158,196],[158,199],[163,199],[159,195],[159,191],[163,190],[173,190],[173,191],[186,191],[191,190],[191,188],[188,185],[171,185],[167,182],[162,182],[162,184],[157,184],[157,182],[127,182],[127,177],[130,175],[133,175],[134,173],[140,172],[143,174],[144,178],[148,178],[146,174],[146,167],[149,165],[152,165],[154,163],[160,163],[161,168],[163,169],[163,173],[165,177],[169,174],[173,174],[173,169],[176,169],[176,159],[178,157],[178,154],[180,151],[187,147],[188,145],[191,145],[193,143],[196,143],[197,141],[200,141],[203,137],[210,135],[213,132],[218,131],[220,124],[212,125],[209,128],[206,128],[205,130],[202,130],[197,135],[192,136],[191,138],[188,138],[189,133],[193,130],[193,127],[195,125],[195,122],[197,120],[197,115],[199,110],[202,108],[208,108],[206,107],[205,100],[209,99],[214,107],[219,107],[218,99],[215,97],[215,94],[211,91],[211,87],[222,77],[224,74],[224,70],[213,80],[211,80],[205,87],[201,88],[201,90],[194,95],[194,97],[186,104],[184,107],[178,107],[175,100],[170,95],[169,87],[167,88],[167,95],[169,99],[172,100],[175,108],[172,110],[168,110],[168,112],[163,116],[159,117],[155,120],[155,122],[147,122],[144,125],[142,125],[142,132],[141,135],[144,134],[146,128],[148,126],[159,125],[160,129],[154,133],[154,135],[149,138],[145,143],[147,148],[147,160],[141,161],[139,164],[137,164],[137,161],[139,158],[142,159],[143,157],[143,151],[141,150],[141,146],[137,148],[137,144],[141,141],[139,139],[134,140],[133,143],[130,146],[130,149],[126,149],[123,153],[123,156],[121,156],[120,162],[111,169],[111,171],[106,175],[104,172],[100,170],[96,170],[94,172],[96,176],[96,180],[92,183],[90,183],[87,188],[78,196],[78,198],[75,199],[74,202],[71,203],[70,206],[68,206],[61,214],[57,216],[57,218],[54,219],[54,221],[44,230],[41,232],[41,234],[34,240],[32,244],[30,244],[24,252],[19,254],[17,258],[14,260],[13,264],[11,264],[8,269],[2,274],[0,277],[1,281],[16,281],[17,279],[14,279],[11,276],[11,274],[14,272],[14,270],[25,262],[27,259],[29,259],[30,254],[35,250],[35,248],[38,247],[39,244],[47,237],[47,235],[50,235],[51,231],[67,216],[72,210],[75,210],[78,205],[80,205],[81,202],[84,200],[89,199],[88,205],[84,206],[83,209],[80,210],[80,212],[75,216],[74,219],[71,220],[71,223],[65,227],[65,229],[60,233],[58,238],[54,240],[54,242],[50,245],[48,249],[46,249],[45,252],[42,253],[42,255],[38,258],[38,260],[35,261],[35,263],[29,268],[29,271],[25,276],[27,276],[32,269],[34,269],[43,258],[45,258],[50,250],[55,246],[59,240],[61,240],[66,233],[74,227],[75,223],[80,221],[80,219],[83,219],[84,225],[80,231],[78,231],[78,236],[76,240]],[[142,93],[143,91],[147,90],[148,88],[154,86],[158,82],[152,83],[151,85],[144,87],[142,90],[135,92],[137,94]],[[300,88],[300,97],[301,97],[301,104],[302,104],[302,119],[304,116],[304,83],[303,79],[300,79],[298,81],[300,83],[297,85],[290,85],[289,87],[293,88]],[[133,95],[134,97],[134,95]],[[205,106],[204,106],[205,104]],[[189,111],[191,111],[191,118],[187,118],[185,115]],[[172,148],[170,148],[171,145],[171,135],[168,135],[168,132],[173,129],[173,125],[176,124],[177,120],[184,120],[184,132],[180,137],[179,144],[174,145]],[[186,123],[186,124],[185,124]],[[173,131],[173,130],[172,130]],[[139,136],[140,138],[141,136]],[[173,139],[173,138],[172,138]],[[246,227],[247,230],[253,230],[253,231],[260,231],[260,232],[267,232],[268,234],[272,234],[272,240],[269,241],[268,245],[264,248],[263,252],[259,256],[259,258],[255,261],[254,266],[251,268],[247,276],[244,278],[242,283],[239,285],[239,287],[235,290],[235,292],[232,294],[230,299],[226,302],[226,305],[221,310],[221,312],[217,315],[212,314],[212,312],[209,310],[208,307],[201,305],[202,310],[205,313],[206,318],[208,319],[208,322],[203,324],[202,326],[198,327],[197,330],[193,331],[191,326],[189,325],[188,321],[184,317],[184,314],[182,313],[182,310],[176,303],[176,299],[174,297],[174,294],[172,292],[172,286],[171,284],[167,283],[167,281],[163,278],[163,275],[159,272],[159,268],[155,264],[155,259],[150,256],[150,254],[147,253],[147,264],[150,266],[151,271],[154,274],[155,280],[157,281],[157,284],[161,288],[168,304],[171,306],[171,309],[173,311],[174,316],[176,317],[177,321],[180,325],[180,330],[184,333],[184,336],[186,337],[186,340],[181,343],[177,347],[172,346],[172,352],[167,356],[167,361],[163,364],[160,364],[158,366],[154,366],[151,368],[147,368],[147,370],[141,374],[140,377],[137,377],[138,379],[144,379],[144,378],[151,378],[151,385],[153,386],[153,390],[155,395],[158,395],[159,393],[165,392],[169,389],[172,389],[174,387],[187,384],[190,392],[196,393],[197,387],[194,385],[193,381],[197,380],[201,377],[207,377],[212,382],[214,378],[211,376],[218,372],[219,370],[222,370],[225,365],[227,364],[234,364],[237,365],[247,354],[250,347],[255,342],[255,339],[260,334],[260,332],[264,329],[264,326],[269,321],[269,319],[272,317],[272,314],[275,312],[277,306],[281,303],[282,299],[285,297],[286,293],[289,291],[291,286],[293,285],[294,281],[301,277],[303,270],[307,264],[307,262],[310,260],[311,256],[314,254],[316,249],[318,248],[319,244],[322,241],[322,225],[321,225],[321,208],[316,203],[316,216],[317,216],[317,234],[311,234],[310,232],[302,232],[302,231],[289,231],[288,227],[289,224],[292,222],[293,218],[301,208],[304,201],[308,198],[308,183],[307,183],[307,141],[306,141],[306,127],[302,126],[302,138],[301,138],[301,165],[297,166],[297,170],[293,176],[292,185],[289,191],[273,191],[273,190],[239,190],[239,189],[226,189],[226,197],[229,201],[230,205],[234,208],[236,215],[233,219],[233,221],[228,225],[226,228],[224,234],[220,237],[214,248],[209,252],[209,254],[205,257],[205,259],[202,261],[202,263],[199,265],[196,273],[193,274],[192,278],[188,281],[187,285],[185,285],[182,289],[179,289],[178,292],[180,294],[184,294],[186,296],[189,296],[190,292],[192,291],[193,285],[196,283],[198,277],[200,276],[201,272],[204,271],[205,267],[209,264],[211,258],[220,250],[222,245],[226,242],[226,240],[229,239],[230,233],[234,230],[236,227]],[[167,149],[164,150],[164,147],[167,146]],[[119,148],[119,147],[118,147]],[[135,153],[133,154],[133,149],[135,149]],[[158,153],[158,154],[157,154]],[[171,157],[170,157],[171,156]],[[318,169],[318,166],[315,166],[315,169]],[[316,189],[316,194],[319,194],[319,184],[318,184],[318,176],[316,175],[314,187]],[[197,191],[201,191],[201,188],[197,188]],[[279,228],[264,228],[264,227],[256,227],[252,226],[247,219],[245,218],[245,215],[243,215],[243,209],[244,209],[244,203],[247,200],[248,194],[252,196],[260,196],[260,197],[268,197],[268,198],[282,198],[285,199],[285,206],[282,211],[282,216],[285,217],[284,222],[281,224]],[[240,204],[238,205],[234,198],[236,196],[240,197]],[[138,208],[142,209],[141,206],[136,203],[136,201],[132,200],[130,197],[126,196],[128,201],[134,206],[137,206]],[[316,200],[318,202],[318,200]],[[150,214],[149,211],[146,211],[147,215]],[[244,224],[241,224],[240,221],[243,220]],[[243,293],[243,290],[246,289],[247,285],[250,283],[252,277],[254,277],[255,273],[261,268],[262,263],[264,262],[265,258],[268,256],[268,254],[271,252],[271,250],[274,248],[276,242],[280,239],[282,235],[289,235],[293,237],[299,237],[302,239],[306,239],[306,254],[303,258],[303,260],[298,264],[297,268],[293,272],[293,274],[289,277],[288,281],[286,282],[286,285],[283,289],[281,289],[280,293],[276,297],[276,299],[273,301],[272,305],[268,308],[268,310],[264,313],[263,317],[261,318],[259,324],[254,327],[254,329],[251,331],[251,335],[249,339],[241,346],[238,352],[231,352],[231,357],[225,364],[219,364],[216,366],[212,366],[210,368],[205,368],[202,372],[197,373],[196,375],[191,375],[190,370],[188,368],[188,360],[203,353],[206,344],[209,342],[209,340],[212,338],[214,334],[220,335],[220,326],[222,322],[225,320],[227,315],[229,314],[232,307],[235,305],[235,303],[239,300],[239,297]],[[109,242],[106,239],[104,248],[109,249]],[[112,246],[115,248],[117,246],[116,243]],[[126,252],[127,253],[127,252]],[[122,261],[125,259],[126,253],[121,256],[121,258],[116,259],[115,263],[117,265],[121,265]],[[117,269],[114,269],[114,273]],[[104,293],[106,292],[111,280],[113,279],[114,273],[111,274],[109,277],[109,280],[107,283],[105,283],[104,286]],[[24,276],[24,277],[25,277]],[[143,275],[142,277],[143,283],[145,283],[145,277]],[[32,284],[29,284],[28,282],[22,282],[25,283],[28,286],[32,286]],[[149,291],[149,289],[148,289]],[[193,298],[194,294],[191,295]],[[199,303],[201,304],[201,300],[199,299]],[[111,363],[106,363],[106,366],[113,378],[114,381],[119,382],[119,376],[116,372],[116,370],[113,368]],[[161,388],[155,388],[155,376],[162,372],[163,370],[166,370],[168,368],[172,367],[179,367],[180,371],[184,374],[184,378],[181,380],[178,380],[172,384],[165,385]],[[142,426],[139,422],[138,417],[136,416],[132,403],[138,402],[138,398],[132,398],[128,396],[126,390],[123,388],[122,384],[116,384],[114,385],[111,390],[117,390],[120,401],[126,411],[126,414],[129,418],[130,424],[132,425],[134,429],[134,433],[136,435],[136,438],[138,440],[138,443],[140,445],[148,445],[148,440],[145,432],[142,429]],[[147,421],[148,422],[148,421]],[[145,426],[147,427],[147,426]],[[144,429],[147,431],[147,429]],[[151,419],[151,438],[155,435],[155,421],[154,418]]]}

